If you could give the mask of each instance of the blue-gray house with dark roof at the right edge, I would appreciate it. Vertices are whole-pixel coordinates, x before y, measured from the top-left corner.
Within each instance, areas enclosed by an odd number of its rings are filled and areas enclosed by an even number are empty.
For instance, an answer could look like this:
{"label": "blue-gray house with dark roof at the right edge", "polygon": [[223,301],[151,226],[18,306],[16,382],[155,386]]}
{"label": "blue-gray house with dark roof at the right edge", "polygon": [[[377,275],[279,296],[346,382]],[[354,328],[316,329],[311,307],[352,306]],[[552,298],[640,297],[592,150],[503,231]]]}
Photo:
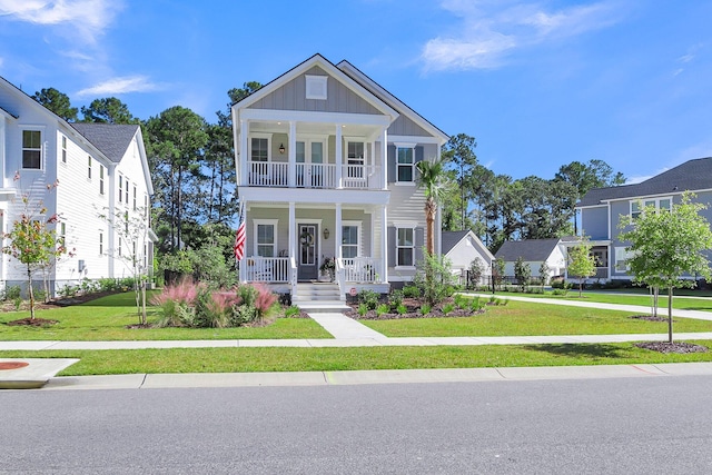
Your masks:
{"label": "blue-gray house with dark roof at the right edge", "polygon": [[[685,161],[636,185],[594,188],[576,205],[581,211],[581,229],[592,244],[599,269],[595,278],[630,279],[625,260],[626,243],[619,239],[622,215],[635,216],[641,206],[670,209],[680,202],[684,191],[693,191],[695,201],[712,201],[712,158]],[[712,209],[702,211],[712,221]]]}

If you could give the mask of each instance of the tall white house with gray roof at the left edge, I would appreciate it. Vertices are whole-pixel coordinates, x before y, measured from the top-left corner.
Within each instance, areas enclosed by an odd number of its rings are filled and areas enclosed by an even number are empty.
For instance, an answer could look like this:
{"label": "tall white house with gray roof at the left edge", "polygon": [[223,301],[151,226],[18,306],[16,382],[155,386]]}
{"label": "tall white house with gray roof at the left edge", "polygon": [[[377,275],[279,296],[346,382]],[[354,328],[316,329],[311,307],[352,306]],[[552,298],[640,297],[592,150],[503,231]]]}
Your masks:
{"label": "tall white house with gray roof at the left edge", "polygon": [[[148,228],[154,189],[139,126],[69,123],[0,78],[0,230],[11,230],[23,210],[20,198],[29,195],[43,201],[44,217],[60,217],[57,232],[75,249],[49,270],[52,291],[83,278],[128,277],[130,255],[151,268],[150,229],[127,243],[99,217],[137,217]],[[17,260],[2,256],[1,285],[23,285],[24,276]]]}

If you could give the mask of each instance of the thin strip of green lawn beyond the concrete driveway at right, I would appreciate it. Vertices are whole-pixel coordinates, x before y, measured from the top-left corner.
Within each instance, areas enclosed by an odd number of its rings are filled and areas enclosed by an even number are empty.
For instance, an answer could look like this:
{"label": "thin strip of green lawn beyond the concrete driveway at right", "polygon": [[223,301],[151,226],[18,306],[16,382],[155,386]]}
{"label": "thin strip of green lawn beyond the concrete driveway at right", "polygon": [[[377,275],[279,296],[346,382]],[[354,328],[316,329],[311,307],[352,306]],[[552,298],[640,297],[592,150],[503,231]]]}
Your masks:
{"label": "thin strip of green lawn beyond the concrete driveway at right", "polygon": [[[631,291],[631,289],[625,289]],[[483,293],[478,293],[485,295]],[[530,298],[553,298],[557,300],[572,300],[572,301],[592,301],[599,304],[620,304],[620,305],[640,305],[643,307],[650,307],[652,299],[650,295],[642,294],[635,295],[635,293],[597,293],[597,291],[584,291],[582,297],[578,297],[578,290],[571,289],[568,295],[553,295],[553,294],[523,294],[523,293],[496,293],[497,297],[506,298],[506,296],[516,297],[530,297]],[[673,295],[672,299],[673,308],[681,310],[703,310],[712,311],[712,297],[708,294],[695,296],[679,296]],[[657,299],[657,306],[663,309],[668,308],[668,296],[661,295]]]}

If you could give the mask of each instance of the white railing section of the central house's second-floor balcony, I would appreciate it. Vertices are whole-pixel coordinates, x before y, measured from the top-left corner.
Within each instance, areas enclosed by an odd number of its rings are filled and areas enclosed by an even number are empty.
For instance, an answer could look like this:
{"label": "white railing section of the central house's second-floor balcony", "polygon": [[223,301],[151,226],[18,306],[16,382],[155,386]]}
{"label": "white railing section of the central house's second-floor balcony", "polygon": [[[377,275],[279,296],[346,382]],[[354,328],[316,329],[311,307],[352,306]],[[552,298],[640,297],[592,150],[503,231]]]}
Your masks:
{"label": "white railing section of the central house's second-floor balcony", "polygon": [[[380,189],[382,167],[375,165],[249,161],[247,186],[280,188]],[[291,168],[291,169],[290,169]]]}

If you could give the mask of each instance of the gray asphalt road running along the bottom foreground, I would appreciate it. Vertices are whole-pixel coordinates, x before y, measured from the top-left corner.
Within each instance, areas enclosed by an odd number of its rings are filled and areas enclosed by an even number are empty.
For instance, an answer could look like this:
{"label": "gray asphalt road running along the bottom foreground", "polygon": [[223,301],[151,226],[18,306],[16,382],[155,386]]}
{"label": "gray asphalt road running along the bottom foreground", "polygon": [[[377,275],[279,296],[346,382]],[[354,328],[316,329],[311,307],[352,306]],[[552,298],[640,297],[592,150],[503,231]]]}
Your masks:
{"label": "gray asphalt road running along the bottom foreground", "polygon": [[712,376],[0,393],[0,473],[708,474]]}

